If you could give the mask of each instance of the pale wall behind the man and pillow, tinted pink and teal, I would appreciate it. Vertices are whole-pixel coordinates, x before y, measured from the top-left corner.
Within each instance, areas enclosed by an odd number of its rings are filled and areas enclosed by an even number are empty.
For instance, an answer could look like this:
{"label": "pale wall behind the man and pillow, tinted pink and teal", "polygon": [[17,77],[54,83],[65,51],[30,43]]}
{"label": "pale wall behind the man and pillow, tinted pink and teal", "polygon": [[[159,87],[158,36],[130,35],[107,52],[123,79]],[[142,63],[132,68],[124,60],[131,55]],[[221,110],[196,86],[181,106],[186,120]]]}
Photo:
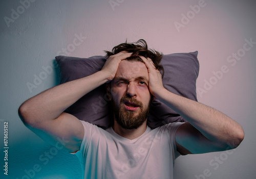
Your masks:
{"label": "pale wall behind the man and pillow, tinted pink and teal", "polygon": [[[256,42],[254,1],[113,0],[117,3],[113,8],[110,0],[28,2],[0,3],[1,146],[4,121],[9,130],[9,170],[6,176],[1,167],[1,178],[79,178],[81,168],[76,156],[55,150],[29,131],[17,109],[29,97],[58,83],[56,70],[38,84],[34,79],[53,64],[55,56],[63,54],[62,48],[69,47],[69,56],[90,57],[104,55],[103,50],[111,50],[125,39],[134,42],[141,38],[164,54],[198,50],[198,100],[226,113],[245,130],[244,141],[234,151],[179,157],[175,178],[254,178],[256,44],[245,46],[247,51],[242,49],[245,39]],[[200,2],[204,3],[193,14],[189,6]],[[19,14],[15,16],[14,11]],[[182,23],[182,14],[190,19],[178,29],[175,23]],[[76,35],[84,38],[71,49]],[[241,56],[234,60],[236,64],[227,61],[233,53]],[[212,71],[224,65],[228,72],[214,81]],[[207,87],[206,81],[213,85]],[[29,89],[28,83],[36,88]],[[4,152],[0,154],[3,166]]]}

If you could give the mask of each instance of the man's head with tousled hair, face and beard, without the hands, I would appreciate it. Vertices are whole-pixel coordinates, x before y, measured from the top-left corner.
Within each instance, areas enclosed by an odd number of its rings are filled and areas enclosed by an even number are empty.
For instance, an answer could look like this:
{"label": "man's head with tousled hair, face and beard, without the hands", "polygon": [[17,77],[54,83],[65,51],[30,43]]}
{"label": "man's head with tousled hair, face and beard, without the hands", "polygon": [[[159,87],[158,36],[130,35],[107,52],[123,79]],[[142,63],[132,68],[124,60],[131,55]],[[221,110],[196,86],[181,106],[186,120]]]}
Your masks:
{"label": "man's head with tousled hair, face and beard, without the hands", "polygon": [[106,52],[106,56],[122,51],[132,52],[133,55],[120,62],[115,78],[107,88],[111,94],[114,119],[124,129],[133,130],[146,122],[153,100],[148,89],[147,67],[138,55],[152,58],[156,68],[162,70],[159,65],[162,54],[147,49],[146,42],[139,40],[136,44],[125,42],[117,45],[112,53]]}

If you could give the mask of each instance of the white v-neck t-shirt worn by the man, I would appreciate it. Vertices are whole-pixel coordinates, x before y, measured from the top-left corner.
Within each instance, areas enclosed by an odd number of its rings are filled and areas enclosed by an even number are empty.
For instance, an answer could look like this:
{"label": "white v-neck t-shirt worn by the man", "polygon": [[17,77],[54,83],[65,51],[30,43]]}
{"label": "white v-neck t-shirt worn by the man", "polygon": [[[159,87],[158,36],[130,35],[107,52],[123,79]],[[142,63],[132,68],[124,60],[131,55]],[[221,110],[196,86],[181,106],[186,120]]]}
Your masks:
{"label": "white v-neck t-shirt worn by the man", "polygon": [[181,122],[169,123],[130,140],[119,136],[112,127],[103,130],[81,121],[84,137],[79,158],[84,178],[173,178],[176,149],[175,132]]}

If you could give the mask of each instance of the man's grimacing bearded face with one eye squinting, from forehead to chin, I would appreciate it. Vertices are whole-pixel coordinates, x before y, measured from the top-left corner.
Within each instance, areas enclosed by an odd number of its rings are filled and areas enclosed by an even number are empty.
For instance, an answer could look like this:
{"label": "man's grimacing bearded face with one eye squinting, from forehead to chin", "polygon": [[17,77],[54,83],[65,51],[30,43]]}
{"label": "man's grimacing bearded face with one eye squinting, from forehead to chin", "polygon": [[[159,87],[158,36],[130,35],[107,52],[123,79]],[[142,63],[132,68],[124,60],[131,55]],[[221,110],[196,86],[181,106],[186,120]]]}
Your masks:
{"label": "man's grimacing bearded face with one eye squinting, from forehead to chin", "polygon": [[115,120],[124,129],[137,129],[146,121],[151,104],[144,63],[122,60],[111,82]]}

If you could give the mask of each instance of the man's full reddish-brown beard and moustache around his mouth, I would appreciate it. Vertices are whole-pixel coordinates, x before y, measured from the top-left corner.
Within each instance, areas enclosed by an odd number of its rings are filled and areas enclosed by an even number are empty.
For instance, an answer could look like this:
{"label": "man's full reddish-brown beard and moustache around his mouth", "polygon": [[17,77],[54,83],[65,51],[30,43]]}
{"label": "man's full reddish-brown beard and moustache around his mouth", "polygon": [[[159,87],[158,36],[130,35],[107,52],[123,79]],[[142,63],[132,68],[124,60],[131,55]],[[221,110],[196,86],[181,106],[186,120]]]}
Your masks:
{"label": "man's full reddish-brown beard and moustache around his mouth", "polygon": [[[138,106],[139,108],[136,111],[126,110],[124,107],[125,100],[136,104],[136,106]],[[146,121],[148,114],[150,113],[151,103],[148,105],[147,108],[145,108],[143,104],[135,98],[123,96],[120,99],[119,104],[120,107],[113,101],[112,98],[114,118],[123,129],[138,129],[138,127],[140,127]]]}

